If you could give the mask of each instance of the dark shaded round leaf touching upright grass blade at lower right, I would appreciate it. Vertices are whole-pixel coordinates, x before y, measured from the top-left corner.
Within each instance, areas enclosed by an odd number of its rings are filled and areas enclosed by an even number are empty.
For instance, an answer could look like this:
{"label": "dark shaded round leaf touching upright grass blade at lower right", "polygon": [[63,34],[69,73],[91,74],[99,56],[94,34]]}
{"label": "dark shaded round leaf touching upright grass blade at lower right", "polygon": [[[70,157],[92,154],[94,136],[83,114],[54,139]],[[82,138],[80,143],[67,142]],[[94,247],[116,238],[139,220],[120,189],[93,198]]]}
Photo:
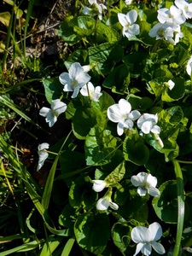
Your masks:
{"label": "dark shaded round leaf touching upright grass blade at lower right", "polygon": [[166,181],[160,185],[160,195],[154,197],[152,205],[157,216],[166,223],[177,223],[177,182]]}

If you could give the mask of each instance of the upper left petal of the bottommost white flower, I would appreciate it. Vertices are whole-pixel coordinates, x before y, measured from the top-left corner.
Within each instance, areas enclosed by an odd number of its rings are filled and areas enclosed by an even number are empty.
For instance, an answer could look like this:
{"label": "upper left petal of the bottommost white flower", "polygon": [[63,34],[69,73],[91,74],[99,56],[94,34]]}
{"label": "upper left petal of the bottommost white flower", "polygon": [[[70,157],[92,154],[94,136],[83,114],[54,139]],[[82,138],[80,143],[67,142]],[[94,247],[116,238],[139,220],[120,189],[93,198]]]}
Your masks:
{"label": "upper left petal of the bottommost white flower", "polygon": [[147,228],[138,226],[131,230],[131,239],[136,243],[145,243],[146,241],[151,241],[151,234]]}

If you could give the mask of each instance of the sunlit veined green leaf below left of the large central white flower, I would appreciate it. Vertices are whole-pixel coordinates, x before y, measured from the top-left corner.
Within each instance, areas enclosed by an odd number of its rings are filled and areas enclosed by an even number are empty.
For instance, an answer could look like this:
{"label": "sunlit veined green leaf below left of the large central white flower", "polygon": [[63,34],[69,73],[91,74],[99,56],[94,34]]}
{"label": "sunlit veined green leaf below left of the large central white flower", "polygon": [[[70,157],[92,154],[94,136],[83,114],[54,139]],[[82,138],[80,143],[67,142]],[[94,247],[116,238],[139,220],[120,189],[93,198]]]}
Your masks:
{"label": "sunlit veined green leaf below left of the large central white flower", "polygon": [[108,164],[116,147],[117,140],[110,133],[103,131],[103,128],[98,125],[91,128],[84,145],[87,165]]}

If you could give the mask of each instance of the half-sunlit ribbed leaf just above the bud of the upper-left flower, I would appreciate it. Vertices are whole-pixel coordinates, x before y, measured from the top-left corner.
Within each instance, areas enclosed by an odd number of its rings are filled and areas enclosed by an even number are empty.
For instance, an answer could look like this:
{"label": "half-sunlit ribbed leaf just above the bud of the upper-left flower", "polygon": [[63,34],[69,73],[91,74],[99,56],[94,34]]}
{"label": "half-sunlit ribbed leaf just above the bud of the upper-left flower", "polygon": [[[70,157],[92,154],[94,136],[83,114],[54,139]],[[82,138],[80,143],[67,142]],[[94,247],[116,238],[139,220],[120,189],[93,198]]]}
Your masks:
{"label": "half-sunlit ribbed leaf just above the bud of the upper-left flower", "polygon": [[100,71],[104,75],[110,73],[116,62],[121,61],[122,58],[123,49],[119,44],[104,43],[89,48],[90,63],[96,61]]}

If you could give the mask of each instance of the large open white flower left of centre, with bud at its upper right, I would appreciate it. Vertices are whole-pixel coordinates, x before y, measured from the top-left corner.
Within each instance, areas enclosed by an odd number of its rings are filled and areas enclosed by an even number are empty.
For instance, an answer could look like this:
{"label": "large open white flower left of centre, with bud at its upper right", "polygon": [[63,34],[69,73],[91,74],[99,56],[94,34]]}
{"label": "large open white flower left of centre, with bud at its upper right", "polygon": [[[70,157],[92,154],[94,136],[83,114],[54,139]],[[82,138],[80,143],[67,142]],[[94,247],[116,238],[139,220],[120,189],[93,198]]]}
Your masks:
{"label": "large open white flower left of centre, with bud at its upper right", "polygon": [[69,68],[68,73],[61,73],[59,76],[61,84],[64,86],[64,91],[73,91],[72,98],[79,94],[79,89],[90,81],[90,75],[84,73],[84,68],[79,62],[75,62]]}

